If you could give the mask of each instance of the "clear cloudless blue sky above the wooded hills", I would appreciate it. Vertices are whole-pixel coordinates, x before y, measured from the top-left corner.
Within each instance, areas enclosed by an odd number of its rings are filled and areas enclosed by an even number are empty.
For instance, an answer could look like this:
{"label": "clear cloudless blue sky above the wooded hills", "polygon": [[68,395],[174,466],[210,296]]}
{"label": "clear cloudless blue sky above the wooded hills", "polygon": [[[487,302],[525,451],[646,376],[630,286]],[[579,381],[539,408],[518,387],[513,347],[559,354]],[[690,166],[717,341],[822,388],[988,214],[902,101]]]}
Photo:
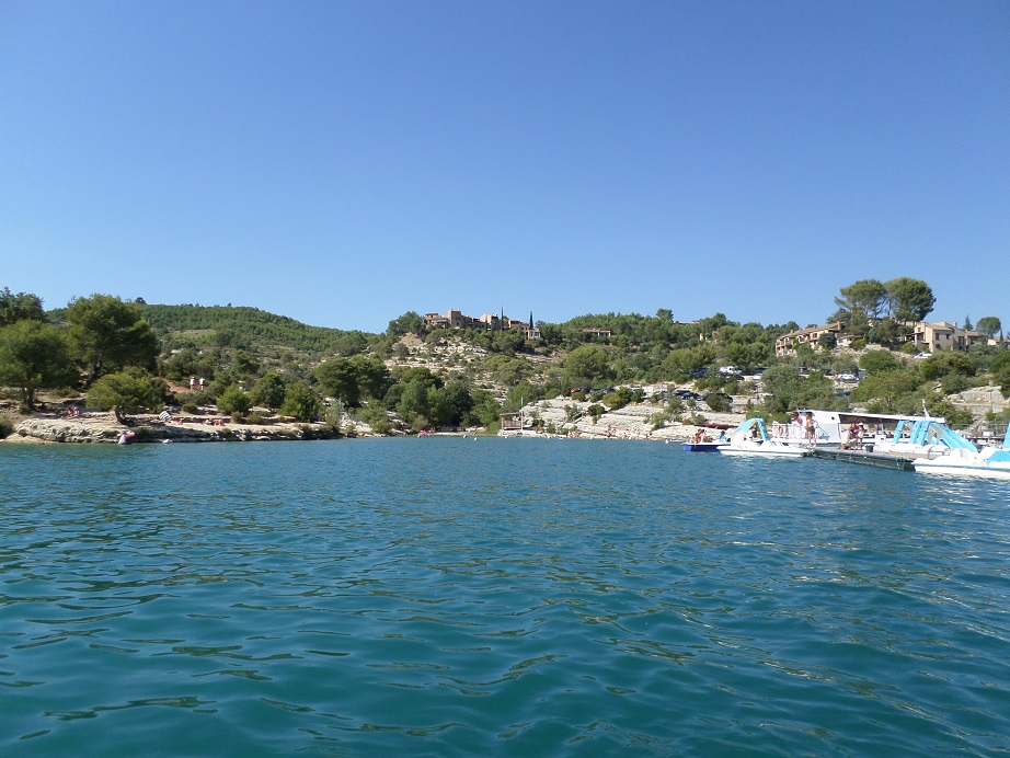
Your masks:
{"label": "clear cloudless blue sky above the wooded hills", "polygon": [[0,0],[0,287],[1010,322],[1010,3]]}

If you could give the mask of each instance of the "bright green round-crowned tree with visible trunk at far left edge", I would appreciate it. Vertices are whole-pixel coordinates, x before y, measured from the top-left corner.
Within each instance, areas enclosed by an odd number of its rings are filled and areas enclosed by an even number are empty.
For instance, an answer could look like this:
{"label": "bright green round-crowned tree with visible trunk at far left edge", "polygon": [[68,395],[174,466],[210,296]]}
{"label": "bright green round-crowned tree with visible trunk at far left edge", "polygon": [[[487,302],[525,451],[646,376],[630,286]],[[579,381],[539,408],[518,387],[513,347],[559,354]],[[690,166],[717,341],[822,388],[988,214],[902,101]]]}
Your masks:
{"label": "bright green round-crowned tree with visible trunk at far left edge", "polygon": [[27,411],[35,407],[36,391],[76,381],[67,342],[56,328],[24,319],[0,329],[0,384],[16,387]]}

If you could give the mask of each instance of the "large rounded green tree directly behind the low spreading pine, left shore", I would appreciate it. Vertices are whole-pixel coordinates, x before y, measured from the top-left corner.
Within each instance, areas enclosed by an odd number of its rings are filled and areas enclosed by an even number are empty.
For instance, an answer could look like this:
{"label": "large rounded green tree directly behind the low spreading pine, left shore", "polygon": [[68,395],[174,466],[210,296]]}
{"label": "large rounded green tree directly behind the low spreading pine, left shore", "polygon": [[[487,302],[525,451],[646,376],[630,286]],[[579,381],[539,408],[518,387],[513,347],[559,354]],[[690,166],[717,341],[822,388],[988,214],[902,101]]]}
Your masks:
{"label": "large rounded green tree directly behind the low spreading pine, left shore", "polygon": [[141,318],[138,305],[111,295],[76,298],[67,307],[67,320],[89,381],[126,366],[154,368],[158,337]]}

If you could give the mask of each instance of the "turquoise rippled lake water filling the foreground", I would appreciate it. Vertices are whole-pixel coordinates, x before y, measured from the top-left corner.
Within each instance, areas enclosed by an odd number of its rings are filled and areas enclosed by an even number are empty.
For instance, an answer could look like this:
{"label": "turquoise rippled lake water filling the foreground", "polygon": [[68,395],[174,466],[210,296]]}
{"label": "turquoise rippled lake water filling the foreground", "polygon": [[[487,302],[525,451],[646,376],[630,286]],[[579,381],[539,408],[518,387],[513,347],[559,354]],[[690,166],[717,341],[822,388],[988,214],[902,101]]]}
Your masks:
{"label": "turquoise rippled lake water filling the foreground", "polygon": [[0,446],[0,753],[1007,751],[1008,515],[657,443]]}

